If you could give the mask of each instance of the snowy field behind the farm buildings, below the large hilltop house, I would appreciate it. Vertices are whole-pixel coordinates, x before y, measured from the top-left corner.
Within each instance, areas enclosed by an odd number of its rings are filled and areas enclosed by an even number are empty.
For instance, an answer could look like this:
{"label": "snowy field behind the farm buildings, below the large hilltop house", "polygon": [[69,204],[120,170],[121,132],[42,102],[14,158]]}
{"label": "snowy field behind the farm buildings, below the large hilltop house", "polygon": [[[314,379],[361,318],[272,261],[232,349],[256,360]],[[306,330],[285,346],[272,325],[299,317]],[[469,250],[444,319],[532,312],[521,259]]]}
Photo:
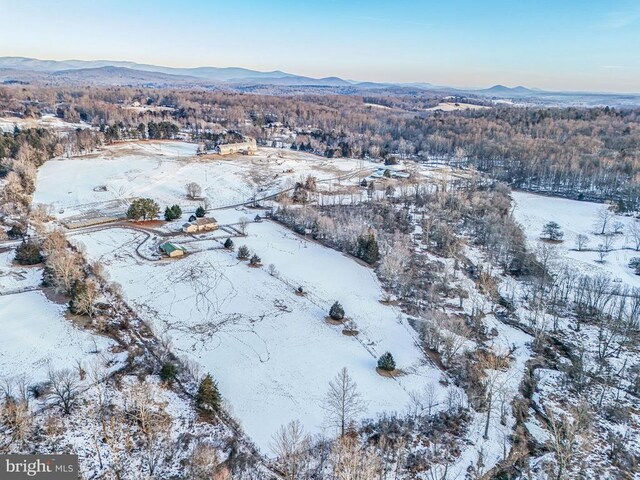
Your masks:
{"label": "snowy field behind the farm buildings, below the large hilltop house", "polygon": [[361,160],[271,148],[252,156],[197,157],[196,147],[174,141],[127,142],[98,153],[50,160],[38,170],[34,202],[53,205],[59,217],[122,212],[129,199],[145,196],[161,207],[179,204],[192,211],[203,202],[186,199],[185,185],[190,182],[202,187],[209,208],[217,208],[290,188],[309,174],[323,180],[375,168]]}

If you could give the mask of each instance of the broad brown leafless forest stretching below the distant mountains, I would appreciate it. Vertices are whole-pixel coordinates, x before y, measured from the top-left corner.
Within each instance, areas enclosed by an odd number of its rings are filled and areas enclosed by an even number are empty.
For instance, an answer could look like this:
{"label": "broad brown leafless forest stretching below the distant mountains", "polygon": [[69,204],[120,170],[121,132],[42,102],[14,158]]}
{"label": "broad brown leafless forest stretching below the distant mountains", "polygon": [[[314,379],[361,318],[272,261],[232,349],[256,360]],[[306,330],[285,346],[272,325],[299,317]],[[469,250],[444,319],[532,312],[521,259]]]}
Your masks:
{"label": "broad brown leafless forest stretching below the distant mountains", "polygon": [[636,209],[640,110],[496,106],[441,112],[432,94],[263,96],[137,88],[0,89],[5,114],[86,122],[106,141],[236,132],[327,157],[474,166],[513,188]]}

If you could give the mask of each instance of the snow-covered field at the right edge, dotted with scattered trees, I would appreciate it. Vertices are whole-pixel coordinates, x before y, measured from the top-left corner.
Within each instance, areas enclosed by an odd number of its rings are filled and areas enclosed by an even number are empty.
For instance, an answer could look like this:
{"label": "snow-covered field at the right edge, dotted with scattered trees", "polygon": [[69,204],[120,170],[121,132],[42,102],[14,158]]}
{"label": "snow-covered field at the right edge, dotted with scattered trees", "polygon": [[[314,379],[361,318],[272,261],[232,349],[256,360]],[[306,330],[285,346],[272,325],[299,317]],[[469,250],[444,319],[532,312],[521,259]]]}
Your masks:
{"label": "snow-covered field at the right edge, dotted with scattered trees", "polygon": [[[596,250],[603,242],[603,236],[596,235],[599,231],[596,224],[598,212],[603,209],[601,203],[524,192],[513,192],[512,196],[515,202],[515,218],[524,227],[531,248],[535,249],[542,242],[542,227],[549,221],[555,221],[564,232],[564,241],[555,244],[560,264],[578,268],[587,274],[605,273],[615,281],[640,287],[640,276],[635,275],[628,266],[631,258],[640,257],[640,252],[634,250],[635,242],[630,235],[633,224],[638,220],[616,215],[610,221],[608,229],[612,228],[615,222],[621,222],[624,225],[623,232],[611,236],[612,250],[606,255],[605,262],[599,263]],[[576,238],[580,234],[586,235],[589,239],[584,251],[578,251],[576,247]]]}

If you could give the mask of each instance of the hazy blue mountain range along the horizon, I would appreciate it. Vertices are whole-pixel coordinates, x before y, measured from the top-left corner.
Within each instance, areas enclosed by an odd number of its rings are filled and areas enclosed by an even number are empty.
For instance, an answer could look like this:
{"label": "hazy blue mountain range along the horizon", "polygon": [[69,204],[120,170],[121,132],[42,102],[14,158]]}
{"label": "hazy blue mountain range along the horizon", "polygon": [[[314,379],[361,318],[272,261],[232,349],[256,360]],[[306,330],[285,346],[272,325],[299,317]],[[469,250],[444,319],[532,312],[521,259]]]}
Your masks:
{"label": "hazy blue mountain range along the horizon", "polygon": [[388,93],[471,95],[498,99],[531,100],[540,103],[638,104],[640,95],[549,92],[523,86],[494,85],[490,88],[460,89],[430,83],[357,82],[339,77],[312,78],[274,70],[261,72],[240,67],[178,68],[110,60],[38,60],[0,57],[0,83],[46,85],[120,85],[147,87],[202,87],[247,92],[357,94],[377,90]]}

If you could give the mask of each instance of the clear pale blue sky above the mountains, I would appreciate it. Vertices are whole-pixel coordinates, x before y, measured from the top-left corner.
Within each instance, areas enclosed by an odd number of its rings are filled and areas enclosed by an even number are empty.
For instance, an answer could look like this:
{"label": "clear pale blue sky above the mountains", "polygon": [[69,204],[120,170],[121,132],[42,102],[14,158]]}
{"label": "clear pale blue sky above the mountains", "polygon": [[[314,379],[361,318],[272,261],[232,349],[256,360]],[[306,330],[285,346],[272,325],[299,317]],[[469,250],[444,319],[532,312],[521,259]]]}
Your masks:
{"label": "clear pale blue sky above the mountains", "polygon": [[0,0],[0,56],[640,92],[640,0]]}

